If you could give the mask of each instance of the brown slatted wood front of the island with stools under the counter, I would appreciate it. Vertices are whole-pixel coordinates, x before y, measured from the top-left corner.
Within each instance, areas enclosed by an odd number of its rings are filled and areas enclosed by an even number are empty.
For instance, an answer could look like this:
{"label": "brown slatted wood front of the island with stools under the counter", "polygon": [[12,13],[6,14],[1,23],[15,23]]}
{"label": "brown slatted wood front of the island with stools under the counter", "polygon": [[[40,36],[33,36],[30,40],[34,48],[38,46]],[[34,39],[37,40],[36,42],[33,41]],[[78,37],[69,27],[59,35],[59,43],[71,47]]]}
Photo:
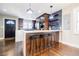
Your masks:
{"label": "brown slatted wood front of the island with stools under the counter", "polygon": [[48,52],[49,49],[59,45],[59,32],[28,36],[29,37],[26,40],[27,56],[41,55],[43,52]]}

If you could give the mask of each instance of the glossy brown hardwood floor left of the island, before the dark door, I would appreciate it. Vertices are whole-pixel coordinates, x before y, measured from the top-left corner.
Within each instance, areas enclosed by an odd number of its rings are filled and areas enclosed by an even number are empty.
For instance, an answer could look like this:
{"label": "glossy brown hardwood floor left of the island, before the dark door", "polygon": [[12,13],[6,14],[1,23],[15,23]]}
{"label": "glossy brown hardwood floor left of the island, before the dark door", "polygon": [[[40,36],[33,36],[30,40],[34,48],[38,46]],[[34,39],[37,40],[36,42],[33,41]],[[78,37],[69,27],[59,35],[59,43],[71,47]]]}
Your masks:
{"label": "glossy brown hardwood floor left of the island, before the dark door", "polygon": [[[2,44],[1,44],[2,43]],[[1,41],[0,56],[22,56],[22,42]]]}

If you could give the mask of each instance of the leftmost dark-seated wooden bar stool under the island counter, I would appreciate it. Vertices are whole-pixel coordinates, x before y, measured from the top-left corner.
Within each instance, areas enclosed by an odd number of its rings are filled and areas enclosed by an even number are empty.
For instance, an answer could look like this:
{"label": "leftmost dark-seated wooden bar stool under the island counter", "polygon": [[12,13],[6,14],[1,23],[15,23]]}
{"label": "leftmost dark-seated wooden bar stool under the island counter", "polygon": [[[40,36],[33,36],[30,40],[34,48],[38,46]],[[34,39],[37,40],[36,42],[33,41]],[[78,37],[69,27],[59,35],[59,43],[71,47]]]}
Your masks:
{"label": "leftmost dark-seated wooden bar stool under the island counter", "polygon": [[34,55],[34,53],[37,53],[38,52],[38,38],[39,38],[39,35],[37,34],[33,34],[33,35],[30,35],[30,53],[31,55]]}

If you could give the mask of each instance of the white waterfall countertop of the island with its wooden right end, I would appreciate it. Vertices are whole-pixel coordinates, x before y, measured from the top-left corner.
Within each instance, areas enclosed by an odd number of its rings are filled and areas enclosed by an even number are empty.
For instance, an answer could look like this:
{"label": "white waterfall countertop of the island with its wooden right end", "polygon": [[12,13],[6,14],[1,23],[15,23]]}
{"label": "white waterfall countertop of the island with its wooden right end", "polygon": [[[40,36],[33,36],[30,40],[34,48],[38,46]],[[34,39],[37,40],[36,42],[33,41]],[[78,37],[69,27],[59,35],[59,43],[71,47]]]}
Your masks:
{"label": "white waterfall countertop of the island with its wooden right end", "polygon": [[[52,34],[52,40],[55,42],[59,42],[59,32],[61,32],[60,30],[34,30],[34,31],[23,31],[23,55],[26,56],[27,54],[27,40],[29,40],[29,35],[31,34],[46,34],[46,33],[50,33]],[[40,39],[39,39],[40,40]]]}

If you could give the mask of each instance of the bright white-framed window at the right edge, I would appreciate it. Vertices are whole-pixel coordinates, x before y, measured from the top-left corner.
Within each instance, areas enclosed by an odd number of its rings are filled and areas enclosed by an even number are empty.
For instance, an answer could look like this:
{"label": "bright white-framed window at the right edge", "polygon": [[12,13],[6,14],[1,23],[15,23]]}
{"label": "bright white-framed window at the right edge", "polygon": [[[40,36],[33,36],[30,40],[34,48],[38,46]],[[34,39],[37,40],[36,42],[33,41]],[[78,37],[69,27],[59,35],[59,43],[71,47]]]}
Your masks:
{"label": "bright white-framed window at the right edge", "polygon": [[72,26],[73,26],[74,32],[76,34],[79,34],[79,7],[73,10],[72,19],[73,19]]}

